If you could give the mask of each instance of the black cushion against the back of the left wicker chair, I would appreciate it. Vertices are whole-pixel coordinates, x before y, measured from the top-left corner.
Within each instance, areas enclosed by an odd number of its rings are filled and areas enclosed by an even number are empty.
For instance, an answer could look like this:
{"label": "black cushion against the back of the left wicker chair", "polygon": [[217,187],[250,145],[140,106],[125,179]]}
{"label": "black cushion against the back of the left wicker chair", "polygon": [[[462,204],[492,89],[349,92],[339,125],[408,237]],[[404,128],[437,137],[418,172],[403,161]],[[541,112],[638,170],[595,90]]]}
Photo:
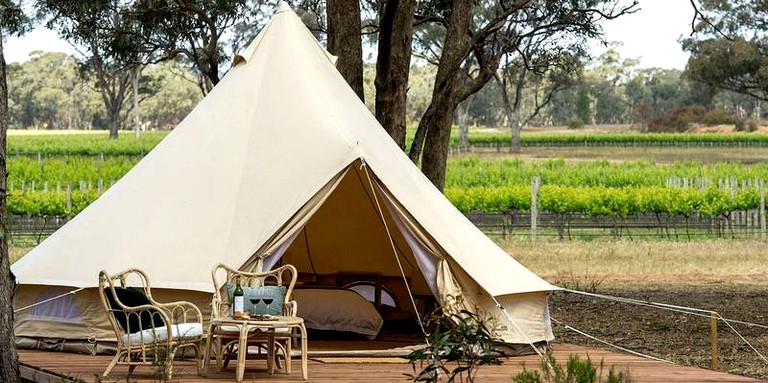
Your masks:
{"label": "black cushion against the back of the left wicker chair", "polygon": [[[104,294],[109,302],[109,307],[112,308],[112,315],[115,316],[115,320],[123,329],[124,332],[139,332],[144,329],[151,329],[152,327],[163,327],[165,321],[157,310],[151,309],[142,311],[139,315],[127,315],[112,295],[109,288],[104,289]],[[146,295],[136,287],[115,287],[115,295],[117,299],[127,307],[136,307],[141,305],[149,305],[152,302],[149,301]]]}

